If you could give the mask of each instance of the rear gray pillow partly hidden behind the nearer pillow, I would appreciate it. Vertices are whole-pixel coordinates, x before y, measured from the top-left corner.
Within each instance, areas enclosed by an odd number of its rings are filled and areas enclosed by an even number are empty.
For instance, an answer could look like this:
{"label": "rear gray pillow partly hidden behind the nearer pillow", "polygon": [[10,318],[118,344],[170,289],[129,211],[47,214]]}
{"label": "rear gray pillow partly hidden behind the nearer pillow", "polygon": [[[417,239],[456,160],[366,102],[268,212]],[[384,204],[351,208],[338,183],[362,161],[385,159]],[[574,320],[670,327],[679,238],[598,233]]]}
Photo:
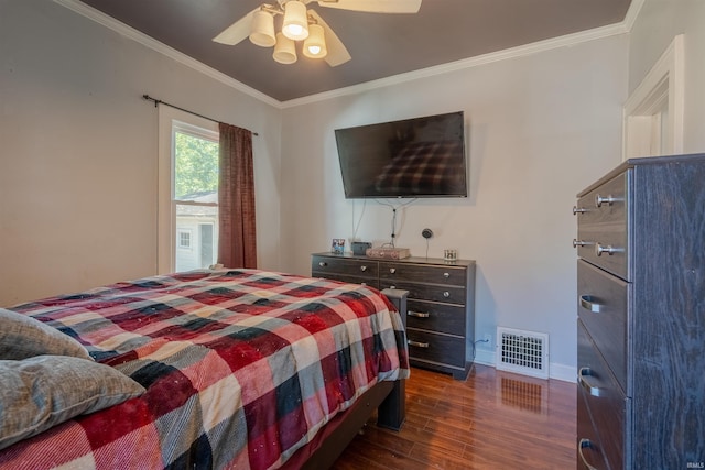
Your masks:
{"label": "rear gray pillow partly hidden behind the nearer pillow", "polygon": [[0,308],[0,359],[21,360],[41,354],[90,360],[86,348],[70,336],[36,318]]}

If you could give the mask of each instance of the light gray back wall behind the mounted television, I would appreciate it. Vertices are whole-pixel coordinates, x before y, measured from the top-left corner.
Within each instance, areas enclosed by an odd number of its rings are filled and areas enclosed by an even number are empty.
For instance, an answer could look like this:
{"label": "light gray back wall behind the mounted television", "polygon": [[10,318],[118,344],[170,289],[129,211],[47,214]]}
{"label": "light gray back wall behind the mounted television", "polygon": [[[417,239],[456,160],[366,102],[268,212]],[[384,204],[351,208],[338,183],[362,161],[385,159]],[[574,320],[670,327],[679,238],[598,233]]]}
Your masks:
{"label": "light gray back wall behind the mounted television", "polygon": [[[621,160],[628,40],[611,36],[284,110],[282,267],[310,274],[332,238],[389,241],[391,209],[346,200],[336,128],[465,111],[467,199],[421,199],[400,211],[397,244],[477,261],[476,335],[547,332],[552,375],[576,364],[575,195]],[[364,215],[362,214],[364,210]],[[494,345],[478,360],[494,363]]]}

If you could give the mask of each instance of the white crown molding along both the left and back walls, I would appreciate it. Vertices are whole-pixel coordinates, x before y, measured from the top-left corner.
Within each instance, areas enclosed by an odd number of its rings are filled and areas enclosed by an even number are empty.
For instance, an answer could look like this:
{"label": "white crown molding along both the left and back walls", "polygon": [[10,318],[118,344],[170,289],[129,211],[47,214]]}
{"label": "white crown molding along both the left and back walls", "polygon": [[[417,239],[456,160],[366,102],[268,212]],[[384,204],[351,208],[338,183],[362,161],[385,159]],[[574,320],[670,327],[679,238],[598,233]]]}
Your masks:
{"label": "white crown molding along both the left and back walls", "polygon": [[268,95],[264,95],[261,91],[256,90],[227,75],[216,70],[213,67],[209,67],[186,54],[176,51],[173,47],[170,47],[147,34],[128,26],[127,24],[102,13],[101,11],[96,10],[93,7],[87,6],[78,0],[53,0],[55,3],[58,3],[74,12],[82,14],[104,26],[129,37],[145,47],[149,47],[155,52],[159,52],[174,61],[186,65],[196,72],[200,72],[202,74],[214,78],[224,85],[227,85],[238,91],[241,91],[246,95],[249,95],[267,105],[270,105],[278,109],[286,109],[294,108],[302,105],[308,105],[317,101],[324,101],[333,98],[338,98],[343,96],[356,95],[364,91],[369,91],[378,88],[389,87],[393,85],[399,85],[408,81],[417,80],[421,78],[433,77],[436,75],[447,74],[451,72],[464,70],[471,67],[477,67],[479,65],[491,64],[495,62],[507,61],[511,58],[518,58],[528,56],[531,54],[536,54],[540,52],[551,51],[561,47],[570,47],[576,44],[585,43],[588,41],[595,41],[604,37],[609,37],[614,35],[625,34],[631,31],[631,28],[634,24],[637,17],[641,10],[646,0],[632,0],[627,11],[627,15],[625,20],[620,23],[595,28],[587,31],[582,31],[578,33],[566,34],[560,37],[553,37],[550,40],[539,41],[531,44],[525,44],[517,47],[511,47],[508,50],[491,52],[488,54],[482,54],[476,57],[470,57],[462,61],[452,62],[448,64],[442,64],[433,67],[422,68],[419,70],[409,72],[405,74],[394,75],[392,77],[380,78],[378,80],[366,81],[364,84],[352,85],[345,88],[338,88],[332,91],[324,91],[322,94],[311,95],[303,98],[296,98],[288,101],[279,101]]}

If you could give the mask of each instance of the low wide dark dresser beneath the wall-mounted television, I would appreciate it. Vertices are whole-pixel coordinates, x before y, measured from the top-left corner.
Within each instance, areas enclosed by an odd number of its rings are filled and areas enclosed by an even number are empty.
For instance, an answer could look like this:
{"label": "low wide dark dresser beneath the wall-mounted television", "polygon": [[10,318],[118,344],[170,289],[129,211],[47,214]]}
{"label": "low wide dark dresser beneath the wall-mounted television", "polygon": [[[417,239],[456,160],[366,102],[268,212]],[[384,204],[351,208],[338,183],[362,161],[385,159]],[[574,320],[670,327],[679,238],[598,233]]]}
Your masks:
{"label": "low wide dark dresser beneath the wall-mounted television", "polygon": [[315,253],[311,276],[409,291],[410,362],[467,379],[473,365],[467,345],[475,340],[475,261],[413,256],[388,261]]}

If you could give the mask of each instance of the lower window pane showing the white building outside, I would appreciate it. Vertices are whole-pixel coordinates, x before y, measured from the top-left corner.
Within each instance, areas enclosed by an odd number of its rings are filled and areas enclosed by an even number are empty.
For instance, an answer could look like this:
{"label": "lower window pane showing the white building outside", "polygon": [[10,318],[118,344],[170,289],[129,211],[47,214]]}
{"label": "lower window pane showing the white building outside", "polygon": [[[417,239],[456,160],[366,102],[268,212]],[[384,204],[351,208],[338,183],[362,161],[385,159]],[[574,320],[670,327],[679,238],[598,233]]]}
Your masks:
{"label": "lower window pane showing the white building outside", "polygon": [[[186,243],[183,243],[185,239]],[[176,271],[208,267],[218,255],[218,208],[176,205]]]}

